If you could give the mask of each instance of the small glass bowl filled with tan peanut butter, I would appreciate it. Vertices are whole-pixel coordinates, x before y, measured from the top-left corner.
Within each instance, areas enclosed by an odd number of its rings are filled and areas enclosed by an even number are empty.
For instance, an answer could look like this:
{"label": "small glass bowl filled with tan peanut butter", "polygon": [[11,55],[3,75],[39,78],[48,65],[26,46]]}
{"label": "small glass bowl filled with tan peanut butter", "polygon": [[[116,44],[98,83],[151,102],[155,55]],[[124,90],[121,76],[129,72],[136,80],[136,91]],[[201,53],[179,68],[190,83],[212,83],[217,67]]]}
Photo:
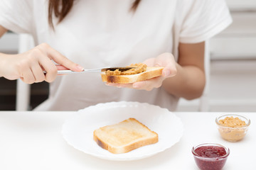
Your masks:
{"label": "small glass bowl filled with tan peanut butter", "polygon": [[[233,120],[235,118],[238,118],[244,121],[245,125],[239,126],[237,120],[234,120],[234,122],[230,125],[223,125],[220,123],[220,120],[224,120],[225,118],[233,118]],[[217,117],[215,119],[215,123],[218,125],[218,131],[220,132],[220,135],[221,137],[223,137],[224,140],[228,140],[230,142],[237,142],[245,137],[250,125],[250,119],[246,118],[244,115],[225,114]]]}

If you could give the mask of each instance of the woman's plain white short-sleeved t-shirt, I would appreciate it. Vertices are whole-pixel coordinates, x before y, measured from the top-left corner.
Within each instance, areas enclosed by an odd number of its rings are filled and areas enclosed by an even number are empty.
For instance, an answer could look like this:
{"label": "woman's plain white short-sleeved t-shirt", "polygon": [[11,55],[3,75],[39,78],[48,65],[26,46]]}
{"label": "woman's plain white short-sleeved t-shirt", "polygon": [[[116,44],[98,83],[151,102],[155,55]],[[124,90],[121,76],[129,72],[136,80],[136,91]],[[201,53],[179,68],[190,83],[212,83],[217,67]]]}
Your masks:
{"label": "woman's plain white short-sleeved t-shirt", "polygon": [[[78,0],[53,32],[48,1],[1,0],[0,25],[31,33],[85,69],[126,66],[164,52],[178,59],[178,42],[207,40],[231,22],[224,0]],[[54,22],[57,20],[55,19]],[[174,111],[178,98],[163,88],[152,91],[106,86],[99,73],[70,74],[50,84],[50,95],[36,110],[77,111],[97,103],[139,101]]]}

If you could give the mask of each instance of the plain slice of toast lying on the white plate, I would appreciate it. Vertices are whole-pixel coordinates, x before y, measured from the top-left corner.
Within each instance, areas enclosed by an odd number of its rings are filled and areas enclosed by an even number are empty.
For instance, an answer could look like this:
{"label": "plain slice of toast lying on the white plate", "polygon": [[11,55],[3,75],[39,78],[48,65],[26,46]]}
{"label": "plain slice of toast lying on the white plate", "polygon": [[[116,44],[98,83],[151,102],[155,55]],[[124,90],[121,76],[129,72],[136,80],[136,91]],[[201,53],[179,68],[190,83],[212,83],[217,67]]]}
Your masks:
{"label": "plain slice of toast lying on the white plate", "polygon": [[129,118],[115,125],[107,125],[93,132],[97,145],[113,154],[130,152],[133,149],[158,142],[156,132],[134,118]]}

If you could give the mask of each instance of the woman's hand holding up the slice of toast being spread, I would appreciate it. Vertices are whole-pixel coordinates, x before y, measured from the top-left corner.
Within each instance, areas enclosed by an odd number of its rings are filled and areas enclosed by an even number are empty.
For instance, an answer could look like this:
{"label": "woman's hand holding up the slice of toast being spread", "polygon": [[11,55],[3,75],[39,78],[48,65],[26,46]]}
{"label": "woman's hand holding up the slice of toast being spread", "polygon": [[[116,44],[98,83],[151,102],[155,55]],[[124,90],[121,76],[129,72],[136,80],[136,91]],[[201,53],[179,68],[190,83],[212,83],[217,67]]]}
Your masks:
{"label": "woman's hand holding up the slice of toast being spread", "polygon": [[122,88],[132,88],[139,90],[151,91],[154,88],[159,88],[164,79],[168,77],[174,77],[177,73],[176,62],[174,56],[171,53],[164,53],[155,58],[150,58],[143,62],[148,67],[164,67],[160,77],[154,77],[146,81],[139,81],[133,84],[112,84],[107,83],[109,86],[117,86]]}

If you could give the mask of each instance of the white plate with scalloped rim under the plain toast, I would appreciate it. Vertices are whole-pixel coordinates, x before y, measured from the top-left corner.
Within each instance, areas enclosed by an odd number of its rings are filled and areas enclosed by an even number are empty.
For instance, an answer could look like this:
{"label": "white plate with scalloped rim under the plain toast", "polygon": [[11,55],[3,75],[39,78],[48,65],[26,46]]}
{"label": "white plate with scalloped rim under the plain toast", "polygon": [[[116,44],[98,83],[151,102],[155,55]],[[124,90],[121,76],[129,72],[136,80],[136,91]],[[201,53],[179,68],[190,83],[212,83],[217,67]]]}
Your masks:
{"label": "white plate with scalloped rim under the plain toast", "polygon": [[[93,131],[105,125],[112,125],[136,118],[150,130],[157,132],[159,142],[134,149],[124,154],[112,154],[102,149],[93,140]],[[173,146],[183,135],[181,120],[166,108],[137,102],[100,103],[78,111],[63,125],[63,137],[69,145],[86,154],[102,159],[130,161],[149,157]]]}

